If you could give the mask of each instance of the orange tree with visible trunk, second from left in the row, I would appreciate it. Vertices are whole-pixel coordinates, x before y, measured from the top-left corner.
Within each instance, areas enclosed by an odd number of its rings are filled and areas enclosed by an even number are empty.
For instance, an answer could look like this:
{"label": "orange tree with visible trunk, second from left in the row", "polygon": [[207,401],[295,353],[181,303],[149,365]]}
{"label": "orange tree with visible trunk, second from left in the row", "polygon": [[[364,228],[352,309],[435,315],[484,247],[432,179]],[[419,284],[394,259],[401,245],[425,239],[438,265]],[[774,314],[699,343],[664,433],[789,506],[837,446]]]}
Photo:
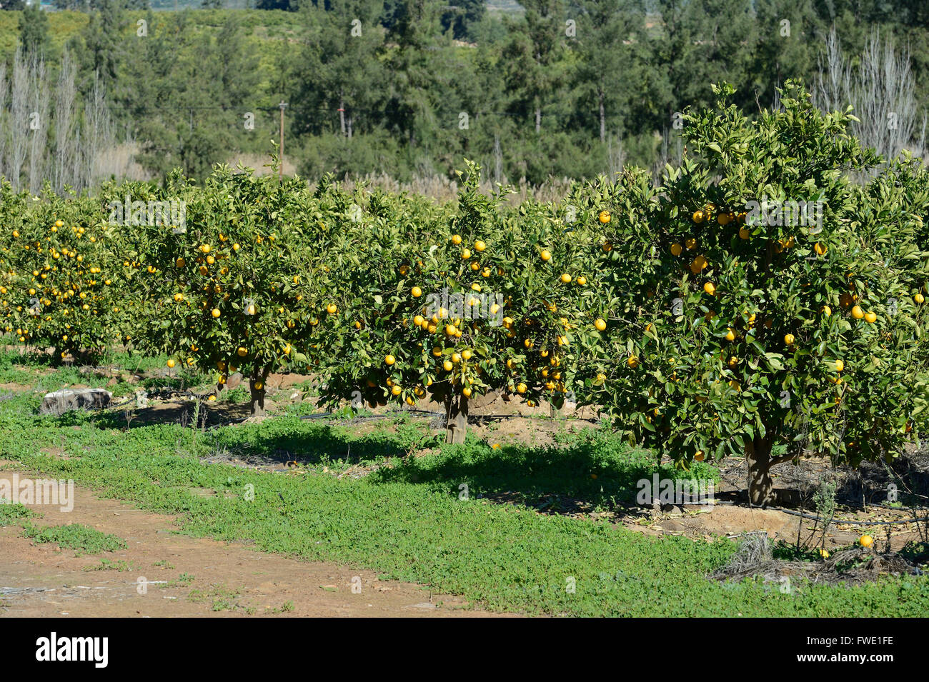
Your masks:
{"label": "orange tree with visible trunk, second from left in the row", "polygon": [[137,338],[147,350],[213,372],[248,378],[250,412],[264,412],[275,367],[309,369],[313,256],[327,224],[306,183],[216,167],[203,187],[173,174],[162,199],[182,201],[184,225],[143,225],[132,239]]}

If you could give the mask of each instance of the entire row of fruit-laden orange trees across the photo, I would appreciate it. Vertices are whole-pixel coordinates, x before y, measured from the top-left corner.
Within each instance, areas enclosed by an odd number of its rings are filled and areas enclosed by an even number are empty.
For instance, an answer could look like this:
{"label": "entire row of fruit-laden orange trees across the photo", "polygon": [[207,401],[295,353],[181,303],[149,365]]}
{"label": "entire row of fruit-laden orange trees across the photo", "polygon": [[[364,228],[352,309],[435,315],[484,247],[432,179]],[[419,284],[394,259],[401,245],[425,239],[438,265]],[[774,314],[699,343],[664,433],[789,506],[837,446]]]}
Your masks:
{"label": "entire row of fruit-laden orange trees across the photo", "polygon": [[[763,504],[780,461],[890,458],[924,431],[929,176],[799,88],[753,121],[728,95],[688,115],[661,182],[627,169],[556,203],[483,196],[471,163],[449,205],[229,168],[94,198],[3,187],[0,312],[61,357],[125,343],[219,387],[240,371],[254,411],[277,368],[329,401],[429,397],[452,441],[478,395],[571,394],[681,466],[744,454]],[[184,224],[114,224],[126,196],[182,202]],[[812,224],[777,211],[811,203]]]}

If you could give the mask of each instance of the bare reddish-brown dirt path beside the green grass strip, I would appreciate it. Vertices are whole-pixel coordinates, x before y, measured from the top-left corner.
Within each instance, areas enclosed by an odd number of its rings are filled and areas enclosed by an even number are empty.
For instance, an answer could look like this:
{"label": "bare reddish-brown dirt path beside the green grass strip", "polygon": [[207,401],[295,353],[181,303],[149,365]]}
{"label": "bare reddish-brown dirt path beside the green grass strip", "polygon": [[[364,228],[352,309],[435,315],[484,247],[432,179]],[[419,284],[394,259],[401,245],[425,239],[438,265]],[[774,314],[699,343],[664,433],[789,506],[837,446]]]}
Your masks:
{"label": "bare reddish-brown dirt path beside the green grass strip", "polygon": [[[13,471],[0,472],[10,480]],[[29,473],[20,471],[20,480]],[[33,505],[37,526],[82,523],[127,547],[78,556],[0,526],[0,616],[488,616],[464,600],[377,574],[176,534],[175,518],[75,487],[71,512]],[[111,562],[104,566],[103,560]],[[98,570],[90,570],[90,569]],[[120,570],[122,569],[122,570]],[[352,591],[360,585],[360,593]],[[142,580],[145,588],[141,588]],[[144,592],[144,594],[140,594]]]}

